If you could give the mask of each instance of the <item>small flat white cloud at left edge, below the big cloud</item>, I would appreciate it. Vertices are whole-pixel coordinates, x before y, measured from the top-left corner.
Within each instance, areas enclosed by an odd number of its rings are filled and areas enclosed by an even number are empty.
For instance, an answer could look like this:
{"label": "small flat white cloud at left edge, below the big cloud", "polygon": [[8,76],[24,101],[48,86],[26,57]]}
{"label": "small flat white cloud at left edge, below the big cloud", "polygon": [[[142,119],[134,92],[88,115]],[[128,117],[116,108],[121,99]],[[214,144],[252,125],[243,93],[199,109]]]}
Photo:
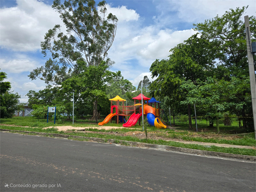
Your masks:
{"label": "small flat white cloud at left edge, below the big cloud", "polygon": [[28,58],[23,59],[13,59],[9,61],[5,61],[5,59],[0,59],[1,70],[6,73],[21,73],[24,71],[32,71],[36,68],[38,63],[33,60],[29,60]]}

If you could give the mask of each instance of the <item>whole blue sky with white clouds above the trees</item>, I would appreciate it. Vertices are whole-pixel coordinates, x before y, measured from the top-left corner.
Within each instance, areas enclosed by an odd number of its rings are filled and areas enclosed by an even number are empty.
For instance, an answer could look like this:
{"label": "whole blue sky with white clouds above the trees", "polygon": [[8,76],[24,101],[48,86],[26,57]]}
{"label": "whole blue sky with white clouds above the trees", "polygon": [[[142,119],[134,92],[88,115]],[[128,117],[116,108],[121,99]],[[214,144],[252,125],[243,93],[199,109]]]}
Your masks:
{"label": "whole blue sky with white clouds above the trees", "polygon": [[[255,0],[106,0],[108,13],[118,18],[115,41],[108,56],[136,87],[156,59],[168,58],[169,50],[196,32],[193,23],[204,22],[229,9],[249,5],[245,15],[255,15]],[[97,1],[98,2],[98,1]],[[14,92],[27,102],[29,90],[45,88],[42,80],[28,78],[30,71],[45,64],[40,42],[60,24],[52,1],[0,0],[0,68],[8,74]]]}

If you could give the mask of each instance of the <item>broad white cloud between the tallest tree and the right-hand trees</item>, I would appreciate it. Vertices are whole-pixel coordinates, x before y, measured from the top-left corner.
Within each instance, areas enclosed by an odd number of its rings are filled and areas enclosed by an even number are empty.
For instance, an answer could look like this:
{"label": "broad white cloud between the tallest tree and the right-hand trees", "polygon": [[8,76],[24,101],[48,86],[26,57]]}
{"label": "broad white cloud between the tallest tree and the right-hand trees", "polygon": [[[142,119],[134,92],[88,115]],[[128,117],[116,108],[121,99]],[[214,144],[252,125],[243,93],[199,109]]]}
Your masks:
{"label": "broad white cloud between the tallest tree and the right-hand trees", "polygon": [[[114,41],[109,57],[116,62],[114,68],[118,70],[126,68],[127,61],[134,59],[139,61],[138,65],[149,69],[155,59],[168,58],[171,48],[183,43],[195,33],[193,29],[172,31],[159,30],[154,26],[138,29],[134,31],[134,37],[124,37],[122,42]],[[128,67],[132,68],[132,66]]]}

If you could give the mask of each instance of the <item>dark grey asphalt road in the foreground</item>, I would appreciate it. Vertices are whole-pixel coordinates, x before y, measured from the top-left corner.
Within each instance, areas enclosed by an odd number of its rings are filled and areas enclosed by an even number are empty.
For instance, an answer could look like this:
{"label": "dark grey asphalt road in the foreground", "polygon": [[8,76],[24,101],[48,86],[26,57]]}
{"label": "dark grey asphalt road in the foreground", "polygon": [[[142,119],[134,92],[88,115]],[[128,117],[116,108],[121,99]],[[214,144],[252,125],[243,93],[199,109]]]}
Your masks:
{"label": "dark grey asphalt road in the foreground", "polygon": [[256,191],[246,161],[6,132],[0,144],[2,192]]}

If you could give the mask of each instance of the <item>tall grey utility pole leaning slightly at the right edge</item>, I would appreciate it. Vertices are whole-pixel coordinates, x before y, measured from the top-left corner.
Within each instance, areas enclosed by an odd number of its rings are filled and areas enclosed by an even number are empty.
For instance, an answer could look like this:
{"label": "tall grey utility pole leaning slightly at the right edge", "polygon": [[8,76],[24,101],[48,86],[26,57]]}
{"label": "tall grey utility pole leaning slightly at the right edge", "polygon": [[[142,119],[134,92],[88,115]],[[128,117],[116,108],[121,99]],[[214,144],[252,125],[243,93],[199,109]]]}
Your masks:
{"label": "tall grey utility pole leaning slightly at the right edge", "polygon": [[248,66],[249,66],[251,95],[252,95],[253,124],[254,124],[254,133],[255,133],[255,139],[256,139],[256,82],[255,82],[255,68],[253,65],[251,33],[250,33],[250,24],[249,24],[248,15],[245,16],[245,34],[246,34]]}

